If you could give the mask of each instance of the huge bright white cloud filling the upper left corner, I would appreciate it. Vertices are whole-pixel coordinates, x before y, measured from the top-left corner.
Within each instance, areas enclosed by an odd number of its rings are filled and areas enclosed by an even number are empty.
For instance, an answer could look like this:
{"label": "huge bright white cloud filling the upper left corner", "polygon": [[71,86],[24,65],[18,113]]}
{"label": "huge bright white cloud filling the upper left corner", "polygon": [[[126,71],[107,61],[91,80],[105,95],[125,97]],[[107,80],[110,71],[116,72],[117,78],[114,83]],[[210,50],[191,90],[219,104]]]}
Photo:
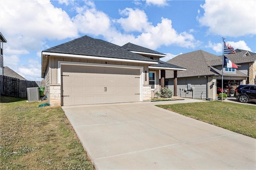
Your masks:
{"label": "huge bright white cloud filling the upper left corner", "polygon": [[[44,39],[78,36],[68,14],[50,0],[6,0],[1,1],[0,8],[1,32],[14,50],[21,49],[20,45],[27,50],[42,49]],[[17,37],[20,41],[11,41]]]}

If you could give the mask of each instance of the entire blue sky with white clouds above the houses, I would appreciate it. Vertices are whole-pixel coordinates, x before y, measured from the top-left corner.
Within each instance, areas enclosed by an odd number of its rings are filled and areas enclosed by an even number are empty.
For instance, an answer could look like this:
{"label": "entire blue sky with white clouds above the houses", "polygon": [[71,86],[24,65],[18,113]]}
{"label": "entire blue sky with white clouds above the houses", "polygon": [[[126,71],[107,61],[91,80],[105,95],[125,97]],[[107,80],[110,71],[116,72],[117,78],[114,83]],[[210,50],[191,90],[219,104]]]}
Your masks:
{"label": "entire blue sky with white clouds above the houses", "polygon": [[255,53],[255,9],[255,0],[0,0],[4,66],[41,80],[41,52],[83,35],[141,45],[163,61],[200,49],[222,55],[222,37]]}

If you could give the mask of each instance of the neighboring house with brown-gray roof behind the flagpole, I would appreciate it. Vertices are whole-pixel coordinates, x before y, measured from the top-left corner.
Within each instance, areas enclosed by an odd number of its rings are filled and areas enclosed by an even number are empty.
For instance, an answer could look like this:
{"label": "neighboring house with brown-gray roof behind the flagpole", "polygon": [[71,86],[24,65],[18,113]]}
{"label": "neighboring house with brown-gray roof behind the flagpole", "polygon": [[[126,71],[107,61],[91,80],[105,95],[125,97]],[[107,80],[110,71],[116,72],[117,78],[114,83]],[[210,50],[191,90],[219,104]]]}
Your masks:
{"label": "neighboring house with brown-gray roof behind the flagpole", "polygon": [[[238,68],[224,68],[224,88],[229,87],[234,92],[239,84],[255,84],[256,55],[253,54],[237,49],[237,53],[225,55],[237,64]],[[178,72],[178,96],[216,100],[217,91],[222,88],[222,56],[198,50],[178,55],[167,63],[187,69]],[[168,88],[171,90],[173,89],[173,78],[174,72],[166,72],[166,79],[170,80]]]}

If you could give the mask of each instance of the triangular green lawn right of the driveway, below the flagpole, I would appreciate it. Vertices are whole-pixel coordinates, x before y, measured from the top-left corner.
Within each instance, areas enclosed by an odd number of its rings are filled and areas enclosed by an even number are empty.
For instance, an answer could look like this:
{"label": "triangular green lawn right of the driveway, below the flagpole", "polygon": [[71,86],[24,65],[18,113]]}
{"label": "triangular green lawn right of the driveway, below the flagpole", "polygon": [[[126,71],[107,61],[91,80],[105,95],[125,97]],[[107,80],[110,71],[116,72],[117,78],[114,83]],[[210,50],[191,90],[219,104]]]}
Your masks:
{"label": "triangular green lawn right of the driveway, below the flagpole", "polygon": [[256,106],[218,101],[157,106],[256,138]]}

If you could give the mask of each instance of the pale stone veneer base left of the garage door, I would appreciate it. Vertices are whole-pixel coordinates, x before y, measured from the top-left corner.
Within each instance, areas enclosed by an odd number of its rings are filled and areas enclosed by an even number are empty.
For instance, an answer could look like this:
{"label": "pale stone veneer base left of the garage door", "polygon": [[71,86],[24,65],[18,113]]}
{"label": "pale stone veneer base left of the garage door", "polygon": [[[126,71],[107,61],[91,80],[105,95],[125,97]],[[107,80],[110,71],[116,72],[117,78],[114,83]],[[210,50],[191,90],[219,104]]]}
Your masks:
{"label": "pale stone veneer base left of the garage door", "polygon": [[60,94],[60,84],[50,84],[50,105],[60,106],[61,105],[61,94]]}

